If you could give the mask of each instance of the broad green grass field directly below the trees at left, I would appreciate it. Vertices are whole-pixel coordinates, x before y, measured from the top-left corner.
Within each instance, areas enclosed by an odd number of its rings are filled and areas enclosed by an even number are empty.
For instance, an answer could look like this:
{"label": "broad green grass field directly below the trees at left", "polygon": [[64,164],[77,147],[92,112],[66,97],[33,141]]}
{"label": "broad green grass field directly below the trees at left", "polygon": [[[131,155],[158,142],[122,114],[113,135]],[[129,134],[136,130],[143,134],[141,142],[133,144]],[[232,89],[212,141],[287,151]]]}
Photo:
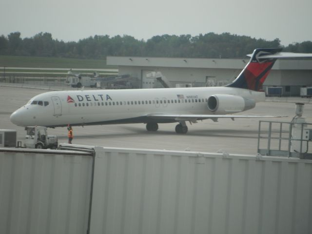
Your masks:
{"label": "broad green grass field directly below the trees at left", "polygon": [[33,68],[64,68],[64,69],[117,69],[107,66],[106,59],[65,59],[50,57],[1,56],[0,67],[33,67]]}

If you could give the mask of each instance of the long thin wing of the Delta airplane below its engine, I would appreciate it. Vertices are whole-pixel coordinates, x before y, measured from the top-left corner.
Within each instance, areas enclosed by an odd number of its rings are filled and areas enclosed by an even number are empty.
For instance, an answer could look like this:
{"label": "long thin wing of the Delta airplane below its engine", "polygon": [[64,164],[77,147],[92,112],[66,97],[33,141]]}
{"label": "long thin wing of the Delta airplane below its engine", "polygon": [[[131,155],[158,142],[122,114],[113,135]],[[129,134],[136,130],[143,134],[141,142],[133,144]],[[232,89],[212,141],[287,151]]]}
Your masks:
{"label": "long thin wing of the Delta airplane below its engine", "polygon": [[195,122],[196,120],[202,119],[212,119],[213,121],[217,121],[218,118],[272,118],[272,117],[287,117],[287,116],[234,116],[234,115],[192,115],[192,114],[149,114],[147,117],[151,117],[154,119],[168,119],[168,120],[176,120],[176,121],[191,121]]}

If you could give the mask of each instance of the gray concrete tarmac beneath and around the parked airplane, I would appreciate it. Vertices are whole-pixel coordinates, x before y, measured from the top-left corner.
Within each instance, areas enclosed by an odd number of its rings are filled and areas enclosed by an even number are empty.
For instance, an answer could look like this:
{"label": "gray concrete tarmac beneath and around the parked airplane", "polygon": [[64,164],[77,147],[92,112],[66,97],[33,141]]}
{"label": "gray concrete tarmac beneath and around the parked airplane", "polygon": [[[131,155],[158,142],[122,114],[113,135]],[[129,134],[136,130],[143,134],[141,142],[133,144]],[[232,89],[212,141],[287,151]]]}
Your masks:
{"label": "gray concrete tarmac beneath and around the parked airplane", "polygon": [[[25,131],[10,122],[10,115],[30,98],[46,90],[0,87],[0,129],[15,129],[18,140],[23,141]],[[295,115],[295,102],[301,98],[288,98],[288,102],[260,102],[253,110],[241,115],[283,115],[281,118],[261,120],[291,121]],[[312,104],[305,104],[304,117],[312,123]],[[189,150],[196,152],[226,151],[230,154],[255,155],[257,151],[259,118],[203,120],[189,124],[186,135],[175,132],[176,123],[159,124],[157,132],[147,132],[145,124],[118,124],[73,127],[74,144],[106,147]],[[275,130],[274,130],[275,131]],[[57,135],[59,143],[67,142],[67,129],[48,129]]]}

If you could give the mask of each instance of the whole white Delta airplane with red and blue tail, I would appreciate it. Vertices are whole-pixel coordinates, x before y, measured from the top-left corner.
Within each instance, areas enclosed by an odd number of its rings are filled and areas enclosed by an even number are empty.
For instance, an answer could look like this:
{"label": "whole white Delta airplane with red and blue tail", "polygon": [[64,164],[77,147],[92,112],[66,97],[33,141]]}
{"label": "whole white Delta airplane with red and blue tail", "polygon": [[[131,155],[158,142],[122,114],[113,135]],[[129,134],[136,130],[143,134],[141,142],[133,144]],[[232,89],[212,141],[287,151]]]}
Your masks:
{"label": "whole white Delta airplane with red and blue tail", "polygon": [[178,122],[176,133],[188,131],[186,122],[240,117],[228,115],[255,107],[265,100],[258,92],[277,58],[312,57],[281,53],[281,48],[255,49],[239,76],[223,87],[75,90],[39,94],[10,117],[19,126],[65,127],[119,123],[146,123],[156,131],[158,123]]}

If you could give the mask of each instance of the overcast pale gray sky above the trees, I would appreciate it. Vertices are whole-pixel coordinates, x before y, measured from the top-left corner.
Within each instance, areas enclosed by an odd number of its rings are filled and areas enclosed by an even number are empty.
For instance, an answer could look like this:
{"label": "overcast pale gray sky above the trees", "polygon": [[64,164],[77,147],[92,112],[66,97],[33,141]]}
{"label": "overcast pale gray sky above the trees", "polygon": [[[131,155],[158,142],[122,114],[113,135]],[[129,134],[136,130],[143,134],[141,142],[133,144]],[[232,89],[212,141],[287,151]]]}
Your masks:
{"label": "overcast pale gray sky above the trees", "polygon": [[312,41],[312,0],[1,0],[0,9],[0,35],[18,31],[22,38],[229,32],[285,46]]}

